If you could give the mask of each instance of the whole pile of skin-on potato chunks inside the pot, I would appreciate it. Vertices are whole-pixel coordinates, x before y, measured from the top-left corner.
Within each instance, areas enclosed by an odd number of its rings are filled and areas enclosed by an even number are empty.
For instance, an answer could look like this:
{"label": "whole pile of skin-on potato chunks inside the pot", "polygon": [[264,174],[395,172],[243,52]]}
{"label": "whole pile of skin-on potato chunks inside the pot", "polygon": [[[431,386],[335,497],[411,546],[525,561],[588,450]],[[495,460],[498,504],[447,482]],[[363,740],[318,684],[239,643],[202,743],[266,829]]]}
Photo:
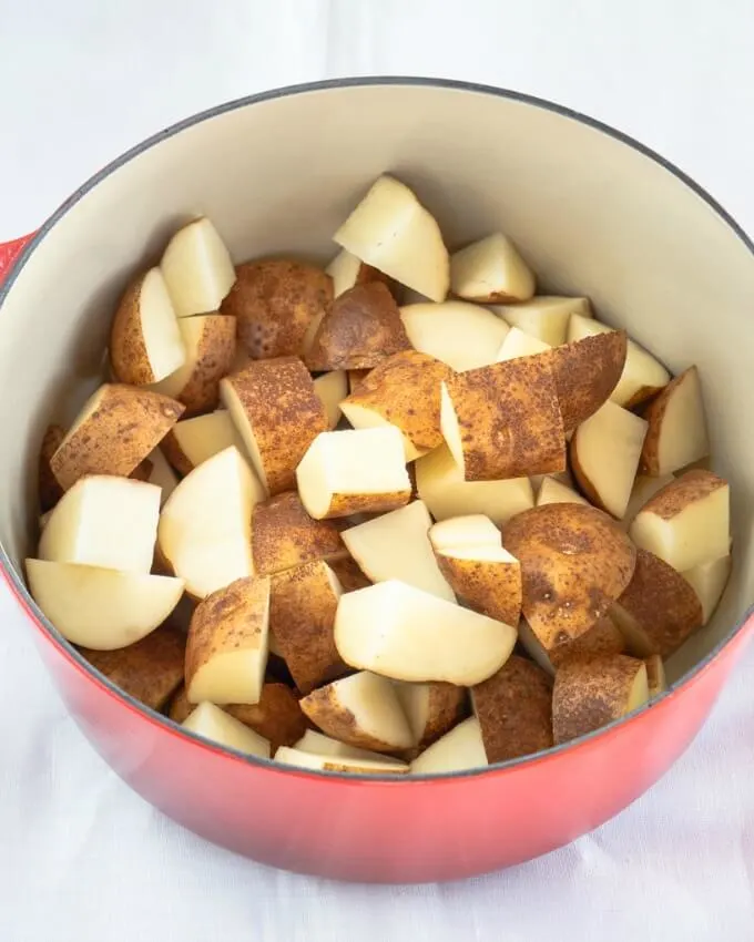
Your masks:
{"label": "whole pile of skin-on potato chunks inside the pot", "polygon": [[483,767],[661,693],[731,566],[696,368],[537,295],[500,233],[449,255],[390,176],[335,242],[234,268],[203,217],[129,286],[42,443],[38,605],[150,707],[307,769]]}

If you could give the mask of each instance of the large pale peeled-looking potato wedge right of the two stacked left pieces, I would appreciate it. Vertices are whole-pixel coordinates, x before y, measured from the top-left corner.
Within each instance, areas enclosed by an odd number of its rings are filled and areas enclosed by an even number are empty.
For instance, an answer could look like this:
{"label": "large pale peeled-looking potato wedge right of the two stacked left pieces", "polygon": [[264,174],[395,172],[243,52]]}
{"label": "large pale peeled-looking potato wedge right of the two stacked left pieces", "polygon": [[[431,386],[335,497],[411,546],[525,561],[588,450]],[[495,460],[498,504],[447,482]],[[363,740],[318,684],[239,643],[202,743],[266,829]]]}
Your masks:
{"label": "large pale peeled-looking potato wedge right of the two stacked left pieces", "polygon": [[205,598],[252,575],[252,508],[262,485],[236,448],[213,455],[181,481],[160,514],[157,546],[186,592]]}

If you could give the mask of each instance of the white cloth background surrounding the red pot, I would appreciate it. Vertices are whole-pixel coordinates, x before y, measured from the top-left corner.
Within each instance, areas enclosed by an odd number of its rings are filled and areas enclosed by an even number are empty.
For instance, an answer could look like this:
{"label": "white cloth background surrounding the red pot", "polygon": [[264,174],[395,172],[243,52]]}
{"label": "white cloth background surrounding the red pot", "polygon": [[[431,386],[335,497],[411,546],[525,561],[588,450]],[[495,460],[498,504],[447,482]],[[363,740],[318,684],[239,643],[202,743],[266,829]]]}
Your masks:
{"label": "white cloth background surrounding the red pot", "polygon": [[[0,0],[0,239],[194,111],[370,73],[588,112],[754,232],[753,39],[752,0]],[[147,807],[67,717],[4,592],[0,606],[1,942],[754,938],[754,651],[689,754],[615,821],[503,873],[367,888],[235,858]]]}

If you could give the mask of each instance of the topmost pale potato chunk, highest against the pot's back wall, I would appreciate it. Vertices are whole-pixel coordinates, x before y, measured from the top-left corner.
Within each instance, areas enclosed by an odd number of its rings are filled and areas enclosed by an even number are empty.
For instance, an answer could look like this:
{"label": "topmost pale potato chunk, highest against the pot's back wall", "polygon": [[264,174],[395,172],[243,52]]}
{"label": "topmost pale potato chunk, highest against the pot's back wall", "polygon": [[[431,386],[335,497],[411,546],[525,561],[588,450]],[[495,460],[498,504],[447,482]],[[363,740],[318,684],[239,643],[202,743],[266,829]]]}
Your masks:
{"label": "topmost pale potato chunk, highest against the pot's back wall", "polygon": [[333,238],[401,285],[445,300],[450,264],[440,228],[395,177],[380,176]]}

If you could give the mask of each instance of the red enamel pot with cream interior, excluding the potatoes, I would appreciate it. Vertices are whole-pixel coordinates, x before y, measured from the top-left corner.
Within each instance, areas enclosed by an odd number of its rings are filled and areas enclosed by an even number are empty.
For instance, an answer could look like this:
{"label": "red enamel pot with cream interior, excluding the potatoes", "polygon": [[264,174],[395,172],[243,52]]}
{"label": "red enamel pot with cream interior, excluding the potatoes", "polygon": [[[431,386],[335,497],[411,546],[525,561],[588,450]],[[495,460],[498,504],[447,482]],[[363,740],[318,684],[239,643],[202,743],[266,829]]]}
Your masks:
{"label": "red enamel pot with cream interior, excluding the potatoes", "polygon": [[[702,370],[736,564],[719,612],[669,664],[671,689],[567,746],[414,780],[296,771],[216,748],[119,693],[45,621],[21,577],[34,461],[55,409],[101,376],[125,279],[204,212],[242,259],[334,254],[380,172],[415,186],[447,239],[510,234],[546,287],[589,295],[677,370]],[[22,242],[22,240],[20,240]],[[13,244],[19,248],[19,244]],[[10,253],[12,255],[12,252]],[[0,255],[0,264],[2,255]],[[0,294],[2,569],[68,707],[147,801],[240,853],[347,880],[447,880],[524,861],[601,825],[683,752],[754,627],[754,247],[699,186],[618,132],[547,102],[452,82],[327,82],[192,117],[75,193]],[[713,787],[713,786],[711,786]]]}

